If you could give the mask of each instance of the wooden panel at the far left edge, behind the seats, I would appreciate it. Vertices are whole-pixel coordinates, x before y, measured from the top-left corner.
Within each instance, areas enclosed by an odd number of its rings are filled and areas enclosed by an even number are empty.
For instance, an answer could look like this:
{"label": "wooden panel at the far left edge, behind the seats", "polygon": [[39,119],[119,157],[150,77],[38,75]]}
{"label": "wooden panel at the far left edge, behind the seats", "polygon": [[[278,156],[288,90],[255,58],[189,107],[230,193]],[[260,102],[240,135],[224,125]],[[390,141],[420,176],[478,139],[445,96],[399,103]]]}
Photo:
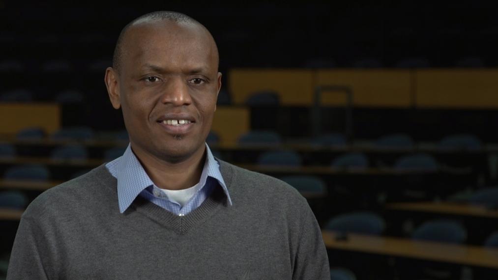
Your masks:
{"label": "wooden panel at the far left edge, behind the seats", "polygon": [[50,103],[0,103],[0,134],[15,134],[19,130],[38,126],[47,133],[60,127],[60,108]]}

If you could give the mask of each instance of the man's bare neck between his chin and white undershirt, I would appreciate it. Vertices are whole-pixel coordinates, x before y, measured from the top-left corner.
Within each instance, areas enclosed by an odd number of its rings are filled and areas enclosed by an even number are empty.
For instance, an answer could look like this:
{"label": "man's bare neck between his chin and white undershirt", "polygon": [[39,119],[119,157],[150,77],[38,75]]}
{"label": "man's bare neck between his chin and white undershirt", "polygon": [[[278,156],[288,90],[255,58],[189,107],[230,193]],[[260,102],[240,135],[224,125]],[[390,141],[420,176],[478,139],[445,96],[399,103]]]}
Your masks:
{"label": "man's bare neck between his chin and white undershirt", "polygon": [[186,160],[175,163],[164,161],[135,147],[131,148],[157,187],[178,190],[199,183],[206,161],[205,146]]}

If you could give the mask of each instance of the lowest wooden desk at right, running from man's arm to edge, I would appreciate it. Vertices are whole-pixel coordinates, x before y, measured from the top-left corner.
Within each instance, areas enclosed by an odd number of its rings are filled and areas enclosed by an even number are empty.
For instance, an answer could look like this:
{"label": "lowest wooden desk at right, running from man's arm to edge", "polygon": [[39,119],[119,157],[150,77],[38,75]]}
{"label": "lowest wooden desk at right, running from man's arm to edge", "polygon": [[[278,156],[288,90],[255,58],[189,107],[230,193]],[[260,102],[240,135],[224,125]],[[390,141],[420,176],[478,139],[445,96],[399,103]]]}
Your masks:
{"label": "lowest wooden desk at right, running from man's arm to edge", "polygon": [[338,241],[332,231],[322,236],[328,249],[498,269],[498,249],[360,234]]}

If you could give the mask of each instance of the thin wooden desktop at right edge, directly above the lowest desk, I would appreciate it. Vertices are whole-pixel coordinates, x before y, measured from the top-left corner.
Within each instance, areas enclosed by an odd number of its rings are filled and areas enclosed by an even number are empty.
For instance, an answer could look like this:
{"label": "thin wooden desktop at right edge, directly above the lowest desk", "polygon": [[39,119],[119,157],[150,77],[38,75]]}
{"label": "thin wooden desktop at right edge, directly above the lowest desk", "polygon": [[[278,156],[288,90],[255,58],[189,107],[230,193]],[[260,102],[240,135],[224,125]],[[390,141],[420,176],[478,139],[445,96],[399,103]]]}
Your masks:
{"label": "thin wooden desktop at right edge, directly above the lowest desk", "polygon": [[403,211],[498,218],[498,210],[488,209],[484,206],[455,202],[389,203],[386,205],[386,208]]}

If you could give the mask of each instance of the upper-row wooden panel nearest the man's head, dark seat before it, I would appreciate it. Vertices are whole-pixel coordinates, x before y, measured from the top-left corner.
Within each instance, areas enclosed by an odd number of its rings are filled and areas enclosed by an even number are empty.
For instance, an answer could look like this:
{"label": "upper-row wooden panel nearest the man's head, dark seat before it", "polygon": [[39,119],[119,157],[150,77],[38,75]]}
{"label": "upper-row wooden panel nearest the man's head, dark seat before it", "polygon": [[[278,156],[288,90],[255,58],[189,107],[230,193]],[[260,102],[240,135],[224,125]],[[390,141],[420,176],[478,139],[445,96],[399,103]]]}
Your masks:
{"label": "upper-row wooden panel nearest the man's head, dark seat before it", "polygon": [[250,93],[262,90],[279,93],[284,105],[312,103],[311,70],[233,69],[228,78],[235,104],[244,104]]}

